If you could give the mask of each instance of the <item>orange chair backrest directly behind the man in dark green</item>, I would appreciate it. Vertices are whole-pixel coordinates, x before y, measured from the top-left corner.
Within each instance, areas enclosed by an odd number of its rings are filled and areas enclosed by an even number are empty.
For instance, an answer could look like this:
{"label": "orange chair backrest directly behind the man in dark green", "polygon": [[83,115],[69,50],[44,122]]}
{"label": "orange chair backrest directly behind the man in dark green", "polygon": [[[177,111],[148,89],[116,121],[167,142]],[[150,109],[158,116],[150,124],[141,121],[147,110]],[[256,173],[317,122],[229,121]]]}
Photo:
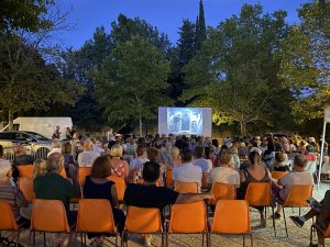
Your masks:
{"label": "orange chair backrest directly behind the man in dark green", "polygon": [[31,228],[37,232],[69,233],[62,201],[35,199],[32,203]]}

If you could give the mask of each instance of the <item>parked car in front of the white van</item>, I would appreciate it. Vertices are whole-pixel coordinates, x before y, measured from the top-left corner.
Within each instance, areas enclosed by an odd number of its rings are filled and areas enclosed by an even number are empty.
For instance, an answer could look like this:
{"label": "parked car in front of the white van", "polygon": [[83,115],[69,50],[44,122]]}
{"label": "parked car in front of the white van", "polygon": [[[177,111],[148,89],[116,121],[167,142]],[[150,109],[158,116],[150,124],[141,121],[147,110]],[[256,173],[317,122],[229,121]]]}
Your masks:
{"label": "parked car in front of the white van", "polygon": [[23,145],[29,155],[35,158],[46,158],[52,149],[52,139],[35,132],[0,132],[0,145],[4,149],[4,157],[12,160],[14,158],[13,147]]}

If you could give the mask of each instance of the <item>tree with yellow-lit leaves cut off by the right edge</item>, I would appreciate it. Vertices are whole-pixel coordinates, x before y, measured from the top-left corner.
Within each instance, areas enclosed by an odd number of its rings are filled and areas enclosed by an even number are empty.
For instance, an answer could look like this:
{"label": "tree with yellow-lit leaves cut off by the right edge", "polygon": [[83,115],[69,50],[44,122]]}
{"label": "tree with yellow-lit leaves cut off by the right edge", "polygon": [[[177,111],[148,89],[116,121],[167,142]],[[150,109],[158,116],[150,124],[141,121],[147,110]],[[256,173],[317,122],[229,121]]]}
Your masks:
{"label": "tree with yellow-lit leaves cut off by the right edge", "polygon": [[304,4],[300,24],[294,25],[282,42],[278,76],[296,98],[290,106],[299,123],[322,117],[323,108],[330,104],[329,10],[329,4]]}

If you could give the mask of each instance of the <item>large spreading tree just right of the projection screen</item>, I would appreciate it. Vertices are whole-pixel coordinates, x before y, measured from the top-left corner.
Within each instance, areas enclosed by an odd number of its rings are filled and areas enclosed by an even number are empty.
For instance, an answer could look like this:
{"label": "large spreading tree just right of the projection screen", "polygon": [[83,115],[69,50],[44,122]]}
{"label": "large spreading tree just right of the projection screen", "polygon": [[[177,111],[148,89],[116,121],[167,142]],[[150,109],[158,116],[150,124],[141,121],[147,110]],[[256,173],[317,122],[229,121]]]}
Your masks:
{"label": "large spreading tree just right of the projection screen", "polygon": [[242,136],[248,124],[274,124],[271,115],[280,115],[276,109],[289,99],[276,77],[279,38],[287,30],[285,16],[283,11],[263,14],[261,5],[244,4],[239,16],[211,29],[209,40],[186,68],[190,89],[184,91],[183,100],[212,108],[216,124],[239,123]]}

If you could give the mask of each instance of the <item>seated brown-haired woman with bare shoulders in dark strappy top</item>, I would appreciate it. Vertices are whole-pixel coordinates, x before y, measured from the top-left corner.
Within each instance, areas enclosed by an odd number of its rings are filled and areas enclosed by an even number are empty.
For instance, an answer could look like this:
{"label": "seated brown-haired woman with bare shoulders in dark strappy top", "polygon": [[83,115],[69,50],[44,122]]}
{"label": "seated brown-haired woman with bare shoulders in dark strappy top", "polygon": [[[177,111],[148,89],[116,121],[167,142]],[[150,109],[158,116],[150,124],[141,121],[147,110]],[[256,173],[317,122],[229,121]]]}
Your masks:
{"label": "seated brown-haired woman with bare shoulders in dark strappy top", "polygon": [[[261,161],[261,154],[257,150],[252,150],[249,155],[250,164],[240,171],[241,188],[238,191],[238,199],[244,199],[249,183],[251,182],[271,182],[271,172]],[[266,226],[264,207],[257,207],[261,216],[261,226]]]}

